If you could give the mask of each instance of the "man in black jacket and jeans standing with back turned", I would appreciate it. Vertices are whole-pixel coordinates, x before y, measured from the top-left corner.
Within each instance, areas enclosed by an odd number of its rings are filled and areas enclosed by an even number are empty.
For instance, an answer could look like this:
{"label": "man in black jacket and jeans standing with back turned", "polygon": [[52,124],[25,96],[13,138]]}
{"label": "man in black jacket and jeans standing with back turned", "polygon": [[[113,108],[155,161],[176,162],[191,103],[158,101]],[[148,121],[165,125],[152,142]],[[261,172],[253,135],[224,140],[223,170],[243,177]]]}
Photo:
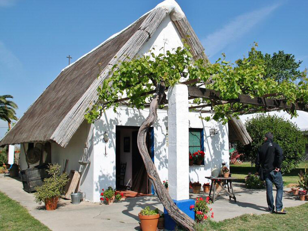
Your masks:
{"label": "man in black jacket and jeans standing with back turned", "polygon": [[[258,150],[256,158],[256,168],[259,172],[260,179],[265,180],[266,200],[270,213],[275,212],[273,198],[273,183],[276,186],[276,213],[286,213],[282,209],[282,192],[283,182],[281,175],[282,149],[278,144],[273,142],[273,134],[265,134],[264,143]],[[263,178],[263,179],[262,179]]]}

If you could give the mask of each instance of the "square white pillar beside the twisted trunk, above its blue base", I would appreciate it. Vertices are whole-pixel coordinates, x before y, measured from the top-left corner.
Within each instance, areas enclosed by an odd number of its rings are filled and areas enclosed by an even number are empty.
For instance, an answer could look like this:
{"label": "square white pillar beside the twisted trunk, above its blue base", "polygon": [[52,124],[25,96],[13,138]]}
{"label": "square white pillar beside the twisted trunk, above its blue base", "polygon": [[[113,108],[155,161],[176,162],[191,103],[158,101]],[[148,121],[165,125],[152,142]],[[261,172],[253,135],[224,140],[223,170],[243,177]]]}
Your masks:
{"label": "square white pillar beside the twisted trunk, above its blue base", "polygon": [[168,188],[173,200],[189,199],[188,88],[168,91]]}

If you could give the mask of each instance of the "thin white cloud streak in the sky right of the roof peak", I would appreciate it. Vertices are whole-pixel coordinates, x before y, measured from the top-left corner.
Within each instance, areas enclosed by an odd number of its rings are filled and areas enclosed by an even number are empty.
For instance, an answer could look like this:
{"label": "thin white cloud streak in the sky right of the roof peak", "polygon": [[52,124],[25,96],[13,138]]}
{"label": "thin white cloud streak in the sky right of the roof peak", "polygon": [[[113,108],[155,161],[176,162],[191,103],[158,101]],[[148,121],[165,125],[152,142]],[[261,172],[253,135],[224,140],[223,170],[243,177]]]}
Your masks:
{"label": "thin white cloud streak in the sky right of the roof peak", "polygon": [[202,44],[207,55],[213,56],[222,51],[229,43],[241,38],[244,34],[249,32],[253,26],[261,22],[266,16],[278,8],[281,4],[266,6],[249,13],[241,14],[231,20],[221,29],[209,34]]}

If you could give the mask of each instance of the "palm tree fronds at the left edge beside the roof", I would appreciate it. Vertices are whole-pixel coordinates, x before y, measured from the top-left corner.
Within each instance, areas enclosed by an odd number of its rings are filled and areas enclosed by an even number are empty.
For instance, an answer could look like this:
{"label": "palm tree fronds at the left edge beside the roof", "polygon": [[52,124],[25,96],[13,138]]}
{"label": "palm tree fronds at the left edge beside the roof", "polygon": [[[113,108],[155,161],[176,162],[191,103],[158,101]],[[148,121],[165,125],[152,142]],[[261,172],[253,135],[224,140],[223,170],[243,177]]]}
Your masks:
{"label": "palm tree fronds at the left edge beside the roof", "polygon": [[12,120],[17,120],[15,109],[17,104],[7,98],[13,99],[12,95],[0,95],[0,119],[7,121],[9,130],[11,129]]}

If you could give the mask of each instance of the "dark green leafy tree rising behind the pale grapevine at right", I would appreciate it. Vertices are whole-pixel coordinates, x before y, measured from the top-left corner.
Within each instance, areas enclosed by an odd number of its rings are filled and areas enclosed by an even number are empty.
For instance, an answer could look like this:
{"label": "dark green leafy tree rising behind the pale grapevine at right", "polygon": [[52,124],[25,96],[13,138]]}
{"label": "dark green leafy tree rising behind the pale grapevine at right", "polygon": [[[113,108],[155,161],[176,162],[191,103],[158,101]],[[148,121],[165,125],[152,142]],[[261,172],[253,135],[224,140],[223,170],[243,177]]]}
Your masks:
{"label": "dark green leafy tree rising behind the pale grapevine at right", "polygon": [[[249,59],[261,59],[264,61],[265,75],[263,78],[274,78],[277,82],[282,81],[295,81],[300,79],[302,72],[298,69],[302,61],[296,61],[295,56],[292,54],[285,54],[284,51],[274,52],[273,55],[263,54],[257,51],[253,54],[249,51]],[[241,66],[243,59],[236,61],[237,65]]]}

